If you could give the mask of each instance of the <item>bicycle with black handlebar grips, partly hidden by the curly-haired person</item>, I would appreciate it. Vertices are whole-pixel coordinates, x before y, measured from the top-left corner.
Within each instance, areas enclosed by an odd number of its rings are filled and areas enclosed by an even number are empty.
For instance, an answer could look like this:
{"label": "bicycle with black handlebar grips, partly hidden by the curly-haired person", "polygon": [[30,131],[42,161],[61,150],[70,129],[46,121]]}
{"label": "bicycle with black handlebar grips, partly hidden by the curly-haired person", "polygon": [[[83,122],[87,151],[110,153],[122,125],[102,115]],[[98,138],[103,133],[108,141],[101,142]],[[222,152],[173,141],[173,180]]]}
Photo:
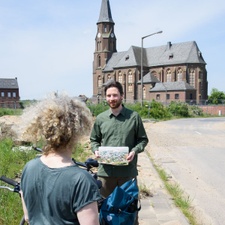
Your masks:
{"label": "bicycle with black handlebar grips, partly hidden by the curly-haired person", "polygon": [[[33,149],[42,153],[42,150],[40,148],[33,147]],[[98,165],[99,165],[98,161],[94,160],[92,158],[88,158],[85,162],[77,162],[75,159],[72,159],[72,160],[73,160],[74,164],[76,164],[77,166],[87,170],[92,175],[92,177],[95,179],[95,181],[98,185],[98,188],[100,189],[101,186],[102,186],[101,181],[97,179],[98,178],[97,173],[92,171],[92,168],[98,167]],[[5,182],[6,184],[12,186],[12,187],[9,187],[7,185],[1,185],[0,189],[6,189],[8,191],[18,193],[19,196],[20,196],[20,182],[17,182],[17,181],[15,181],[11,178],[8,178],[4,175],[0,177],[0,180]],[[101,204],[101,202],[99,202],[99,207],[100,207],[100,204]],[[25,225],[25,224],[27,224],[27,223],[26,223],[26,221],[24,219],[24,216],[23,216],[20,220],[19,225]]]}

